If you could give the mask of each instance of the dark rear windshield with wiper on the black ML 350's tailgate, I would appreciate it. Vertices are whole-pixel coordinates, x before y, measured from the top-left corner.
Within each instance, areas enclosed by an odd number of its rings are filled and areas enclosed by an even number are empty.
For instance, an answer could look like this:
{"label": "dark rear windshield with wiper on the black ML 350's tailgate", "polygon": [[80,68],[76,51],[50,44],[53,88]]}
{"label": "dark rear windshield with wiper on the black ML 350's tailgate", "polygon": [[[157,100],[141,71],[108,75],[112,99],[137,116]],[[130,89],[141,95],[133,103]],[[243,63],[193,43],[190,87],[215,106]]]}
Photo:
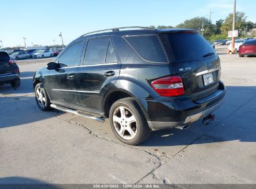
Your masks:
{"label": "dark rear windshield with wiper on the black ML 350's tailgate", "polygon": [[201,34],[159,34],[170,62],[191,62],[216,55],[212,45]]}

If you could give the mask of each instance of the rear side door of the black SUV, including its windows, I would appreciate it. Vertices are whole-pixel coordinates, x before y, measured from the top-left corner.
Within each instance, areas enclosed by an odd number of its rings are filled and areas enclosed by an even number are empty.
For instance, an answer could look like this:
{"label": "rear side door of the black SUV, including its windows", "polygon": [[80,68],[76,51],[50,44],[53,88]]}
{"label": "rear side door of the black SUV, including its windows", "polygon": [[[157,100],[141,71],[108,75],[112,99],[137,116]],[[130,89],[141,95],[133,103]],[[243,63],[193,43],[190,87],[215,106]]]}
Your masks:
{"label": "rear side door of the black SUV, including its windows", "polygon": [[83,108],[102,111],[103,94],[115,83],[120,67],[109,37],[88,40],[83,65],[77,70],[77,97]]}

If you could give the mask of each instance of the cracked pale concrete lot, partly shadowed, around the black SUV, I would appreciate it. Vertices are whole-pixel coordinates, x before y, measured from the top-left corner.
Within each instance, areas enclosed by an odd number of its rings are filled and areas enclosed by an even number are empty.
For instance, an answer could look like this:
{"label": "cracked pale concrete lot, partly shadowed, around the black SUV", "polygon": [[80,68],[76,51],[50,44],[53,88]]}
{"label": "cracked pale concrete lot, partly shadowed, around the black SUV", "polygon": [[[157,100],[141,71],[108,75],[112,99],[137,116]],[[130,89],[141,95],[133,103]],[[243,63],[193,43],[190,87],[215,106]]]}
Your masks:
{"label": "cracked pale concrete lot, partly shadowed, around the black SUV", "polygon": [[256,183],[256,57],[216,48],[227,86],[216,121],[153,131],[137,147],[108,120],[40,111],[32,74],[51,59],[19,61],[21,86],[0,86],[0,183]]}

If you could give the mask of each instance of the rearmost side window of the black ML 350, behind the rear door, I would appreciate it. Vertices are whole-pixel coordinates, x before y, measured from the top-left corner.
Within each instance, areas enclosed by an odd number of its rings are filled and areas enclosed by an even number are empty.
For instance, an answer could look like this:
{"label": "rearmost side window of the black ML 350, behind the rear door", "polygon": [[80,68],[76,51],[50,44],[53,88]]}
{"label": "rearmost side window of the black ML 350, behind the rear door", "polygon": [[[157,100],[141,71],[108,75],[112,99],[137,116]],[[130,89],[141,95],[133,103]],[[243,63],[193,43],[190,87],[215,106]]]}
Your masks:
{"label": "rearmost side window of the black ML 350, behind the rear door", "polygon": [[167,62],[163,48],[156,35],[125,37],[141,58],[149,62]]}

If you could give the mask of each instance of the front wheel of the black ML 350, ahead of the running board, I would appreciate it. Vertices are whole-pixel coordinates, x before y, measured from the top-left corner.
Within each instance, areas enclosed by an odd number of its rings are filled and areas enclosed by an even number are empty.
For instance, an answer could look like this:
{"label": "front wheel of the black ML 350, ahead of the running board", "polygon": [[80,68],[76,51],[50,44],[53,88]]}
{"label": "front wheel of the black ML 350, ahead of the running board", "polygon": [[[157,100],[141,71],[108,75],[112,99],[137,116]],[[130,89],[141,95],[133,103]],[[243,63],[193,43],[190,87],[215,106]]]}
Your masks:
{"label": "front wheel of the black ML 350, ahead of the running board", "polygon": [[48,94],[46,93],[42,83],[37,83],[34,91],[35,91],[35,98],[36,98],[37,106],[42,111],[49,111],[50,109],[52,109],[52,108],[50,108],[50,99],[49,99]]}

